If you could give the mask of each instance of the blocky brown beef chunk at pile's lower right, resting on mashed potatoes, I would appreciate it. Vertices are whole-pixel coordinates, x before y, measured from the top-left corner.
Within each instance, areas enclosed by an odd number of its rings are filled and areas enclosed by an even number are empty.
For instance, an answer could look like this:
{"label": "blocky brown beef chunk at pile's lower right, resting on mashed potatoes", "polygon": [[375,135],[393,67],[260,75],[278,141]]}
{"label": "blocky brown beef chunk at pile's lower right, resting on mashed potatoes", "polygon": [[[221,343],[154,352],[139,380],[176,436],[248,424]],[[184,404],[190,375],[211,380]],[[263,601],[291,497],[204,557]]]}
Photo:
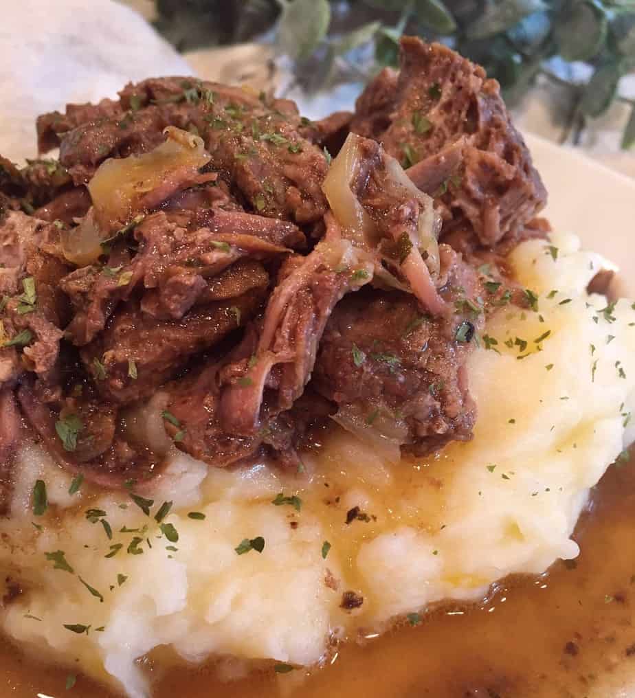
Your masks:
{"label": "blocky brown beef chunk at pile's lower right, resting on mashed potatoes", "polygon": [[337,403],[346,429],[383,433],[424,454],[471,438],[476,409],[465,361],[482,326],[486,297],[476,271],[441,246],[444,300],[450,317],[432,318],[413,297],[368,292],[345,298],[328,322],[312,386]]}

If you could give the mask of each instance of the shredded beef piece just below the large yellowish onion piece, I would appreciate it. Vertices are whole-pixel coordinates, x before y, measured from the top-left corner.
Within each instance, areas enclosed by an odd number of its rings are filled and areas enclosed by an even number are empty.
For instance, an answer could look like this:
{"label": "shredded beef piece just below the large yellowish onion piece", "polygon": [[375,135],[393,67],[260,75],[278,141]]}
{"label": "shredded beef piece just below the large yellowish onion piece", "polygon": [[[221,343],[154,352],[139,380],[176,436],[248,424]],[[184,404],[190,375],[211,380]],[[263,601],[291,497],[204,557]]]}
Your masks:
{"label": "shredded beef piece just below the large yellowish onion piece", "polygon": [[[284,245],[301,245],[305,240],[293,223],[240,211],[211,209],[202,219],[194,214],[194,220],[206,227],[191,232],[170,221],[163,211],[147,216],[135,230],[139,248],[132,260],[115,253],[105,269],[82,267],[61,281],[75,307],[67,328],[75,345],[92,341],[117,303],[131,297],[137,288],[153,290],[148,309],[159,308],[159,315],[177,319],[199,295],[205,296],[207,280],[236,260],[284,254],[289,251]],[[180,218],[180,222],[188,225],[190,216]],[[189,282],[194,283],[188,286]],[[177,286],[190,291],[187,302],[173,299]]]}

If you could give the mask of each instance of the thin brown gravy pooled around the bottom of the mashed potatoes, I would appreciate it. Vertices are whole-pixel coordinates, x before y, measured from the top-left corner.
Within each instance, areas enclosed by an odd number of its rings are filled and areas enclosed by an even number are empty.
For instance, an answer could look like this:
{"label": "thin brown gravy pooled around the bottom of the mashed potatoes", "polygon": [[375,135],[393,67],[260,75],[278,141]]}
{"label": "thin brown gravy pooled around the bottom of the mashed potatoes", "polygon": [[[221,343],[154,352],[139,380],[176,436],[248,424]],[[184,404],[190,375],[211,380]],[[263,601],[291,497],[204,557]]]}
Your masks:
{"label": "thin brown gravy pooled around the bottom of the mashed potatoes", "polygon": [[[509,578],[488,602],[432,611],[365,644],[346,644],[330,666],[258,671],[223,683],[213,664],[176,669],[156,698],[607,698],[613,681],[635,679],[635,456],[611,467],[594,489],[575,537],[581,556],[539,578]],[[630,667],[630,668],[629,668]],[[45,667],[0,644],[0,695],[114,698],[68,670]],[[607,681],[608,679],[608,681]],[[293,690],[284,690],[293,686]],[[282,690],[281,690],[282,688]]]}

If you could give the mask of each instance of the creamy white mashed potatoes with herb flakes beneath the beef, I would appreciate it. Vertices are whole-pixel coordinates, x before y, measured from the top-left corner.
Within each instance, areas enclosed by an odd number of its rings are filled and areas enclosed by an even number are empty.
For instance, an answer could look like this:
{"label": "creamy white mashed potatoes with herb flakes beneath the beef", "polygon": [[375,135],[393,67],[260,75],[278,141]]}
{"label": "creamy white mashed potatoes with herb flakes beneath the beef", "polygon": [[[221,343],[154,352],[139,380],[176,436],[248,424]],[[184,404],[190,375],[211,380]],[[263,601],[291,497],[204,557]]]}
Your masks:
{"label": "creamy white mashed potatoes with herb flakes beneath the beef", "polygon": [[[0,522],[3,574],[24,590],[0,611],[5,632],[140,698],[135,660],[158,646],[166,662],[314,664],[333,636],[574,558],[589,489],[635,436],[635,310],[587,296],[602,260],[575,237],[550,244],[511,256],[537,309],[488,321],[469,364],[470,443],[395,464],[338,433],[302,473],[208,471],[175,451],[152,505],[87,485],[69,495],[71,477],[25,447]],[[37,479],[43,517],[31,512]]]}

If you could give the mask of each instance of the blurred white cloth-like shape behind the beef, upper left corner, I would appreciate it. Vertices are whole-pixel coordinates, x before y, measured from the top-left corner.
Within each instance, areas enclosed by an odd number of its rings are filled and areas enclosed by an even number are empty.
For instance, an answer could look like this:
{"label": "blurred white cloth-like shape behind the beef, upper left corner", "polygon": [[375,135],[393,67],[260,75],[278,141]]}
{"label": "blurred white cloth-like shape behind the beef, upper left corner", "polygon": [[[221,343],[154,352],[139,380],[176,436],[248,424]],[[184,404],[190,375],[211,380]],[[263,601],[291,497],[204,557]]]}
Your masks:
{"label": "blurred white cloth-like shape behind the beef, upper left corner", "polygon": [[15,162],[36,156],[38,114],[116,97],[150,75],[192,74],[141,15],[112,0],[2,3],[0,56],[0,153]]}

